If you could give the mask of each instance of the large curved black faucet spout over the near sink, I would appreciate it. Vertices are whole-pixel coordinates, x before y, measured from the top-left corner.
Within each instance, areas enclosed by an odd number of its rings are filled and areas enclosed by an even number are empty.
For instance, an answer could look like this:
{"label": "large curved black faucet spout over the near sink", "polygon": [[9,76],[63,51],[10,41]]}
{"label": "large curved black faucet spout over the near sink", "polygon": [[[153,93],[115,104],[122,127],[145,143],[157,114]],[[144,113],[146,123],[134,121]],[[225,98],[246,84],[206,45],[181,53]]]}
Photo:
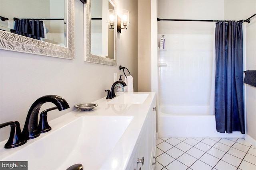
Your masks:
{"label": "large curved black faucet spout over the near sink", "polygon": [[42,96],[36,100],[28,111],[25,125],[22,131],[22,135],[25,137],[25,139],[33,139],[39,136],[40,132],[38,130],[38,113],[41,106],[46,102],[55,104],[59,111],[69,108],[66,100],[56,95]]}

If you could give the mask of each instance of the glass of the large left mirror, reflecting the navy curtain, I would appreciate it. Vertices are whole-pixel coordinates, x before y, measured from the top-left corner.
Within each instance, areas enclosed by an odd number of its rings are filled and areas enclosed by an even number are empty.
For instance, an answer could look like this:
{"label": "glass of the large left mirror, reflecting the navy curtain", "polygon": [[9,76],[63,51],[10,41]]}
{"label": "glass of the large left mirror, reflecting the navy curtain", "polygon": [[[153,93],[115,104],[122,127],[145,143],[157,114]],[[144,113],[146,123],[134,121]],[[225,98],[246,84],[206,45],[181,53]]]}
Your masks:
{"label": "glass of the large left mirror, reflecting the navy curtain", "polygon": [[0,16],[8,20],[0,28],[66,47],[65,9],[65,0],[4,0]]}

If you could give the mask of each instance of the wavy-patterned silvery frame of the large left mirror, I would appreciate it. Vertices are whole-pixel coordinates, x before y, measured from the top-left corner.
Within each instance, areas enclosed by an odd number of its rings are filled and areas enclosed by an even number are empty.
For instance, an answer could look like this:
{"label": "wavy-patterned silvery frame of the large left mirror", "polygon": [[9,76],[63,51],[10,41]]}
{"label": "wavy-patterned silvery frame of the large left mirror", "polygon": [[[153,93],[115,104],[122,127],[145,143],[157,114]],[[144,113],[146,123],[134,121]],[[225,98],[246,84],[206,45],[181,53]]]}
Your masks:
{"label": "wavy-patterned silvery frame of the large left mirror", "polygon": [[0,49],[74,59],[74,0],[66,0],[67,47],[0,30]]}

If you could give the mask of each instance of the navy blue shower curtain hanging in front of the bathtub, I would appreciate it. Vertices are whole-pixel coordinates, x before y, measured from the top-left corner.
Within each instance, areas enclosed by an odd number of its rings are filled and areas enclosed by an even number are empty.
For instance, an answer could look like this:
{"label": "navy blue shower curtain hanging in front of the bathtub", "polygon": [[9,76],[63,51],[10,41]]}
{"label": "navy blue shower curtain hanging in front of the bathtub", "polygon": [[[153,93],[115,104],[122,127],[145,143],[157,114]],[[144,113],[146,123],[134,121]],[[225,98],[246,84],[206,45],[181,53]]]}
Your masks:
{"label": "navy blue shower curtain hanging in front of the bathtub", "polygon": [[215,117],[221,133],[244,130],[242,22],[216,23]]}

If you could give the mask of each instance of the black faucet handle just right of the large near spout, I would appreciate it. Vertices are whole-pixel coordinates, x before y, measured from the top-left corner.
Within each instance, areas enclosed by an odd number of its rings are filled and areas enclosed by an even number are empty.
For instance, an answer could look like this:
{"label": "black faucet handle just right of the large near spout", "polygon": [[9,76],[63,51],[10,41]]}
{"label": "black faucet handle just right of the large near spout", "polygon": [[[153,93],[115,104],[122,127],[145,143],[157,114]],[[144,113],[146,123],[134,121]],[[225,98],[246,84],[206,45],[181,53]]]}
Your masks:
{"label": "black faucet handle just right of the large near spout", "polygon": [[51,111],[51,110],[55,110],[55,109],[58,109],[58,107],[51,107],[51,108],[46,109],[40,113],[40,120],[39,120],[39,124],[38,124],[39,133],[45,133],[45,132],[52,130],[52,127],[50,127],[50,125],[48,124],[48,121],[47,121],[47,112]]}

